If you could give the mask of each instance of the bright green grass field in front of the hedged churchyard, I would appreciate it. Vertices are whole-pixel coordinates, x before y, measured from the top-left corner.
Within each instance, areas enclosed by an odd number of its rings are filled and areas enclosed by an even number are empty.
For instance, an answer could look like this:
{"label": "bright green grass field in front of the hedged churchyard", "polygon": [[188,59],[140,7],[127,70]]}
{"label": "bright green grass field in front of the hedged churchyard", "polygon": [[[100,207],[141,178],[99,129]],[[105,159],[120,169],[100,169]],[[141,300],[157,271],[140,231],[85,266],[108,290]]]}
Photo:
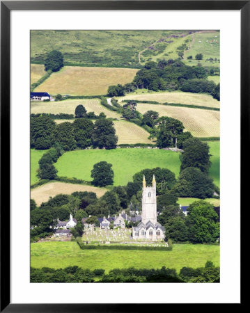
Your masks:
{"label": "bright green grass field in front of the hedged churchyard", "polygon": [[174,245],[172,251],[145,250],[81,250],[76,242],[52,241],[31,243],[31,266],[35,268],[162,268],[180,271],[183,266],[204,266],[211,260],[219,266],[219,246]]}

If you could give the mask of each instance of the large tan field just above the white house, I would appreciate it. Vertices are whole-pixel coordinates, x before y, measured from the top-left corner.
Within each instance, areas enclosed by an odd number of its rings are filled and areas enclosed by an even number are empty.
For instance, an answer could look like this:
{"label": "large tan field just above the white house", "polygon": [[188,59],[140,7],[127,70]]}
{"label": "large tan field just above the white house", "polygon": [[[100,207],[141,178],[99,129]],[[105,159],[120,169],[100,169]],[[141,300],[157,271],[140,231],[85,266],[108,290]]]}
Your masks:
{"label": "large tan field just above the white house", "polygon": [[65,66],[34,91],[57,95],[106,95],[108,87],[130,83],[138,69]]}

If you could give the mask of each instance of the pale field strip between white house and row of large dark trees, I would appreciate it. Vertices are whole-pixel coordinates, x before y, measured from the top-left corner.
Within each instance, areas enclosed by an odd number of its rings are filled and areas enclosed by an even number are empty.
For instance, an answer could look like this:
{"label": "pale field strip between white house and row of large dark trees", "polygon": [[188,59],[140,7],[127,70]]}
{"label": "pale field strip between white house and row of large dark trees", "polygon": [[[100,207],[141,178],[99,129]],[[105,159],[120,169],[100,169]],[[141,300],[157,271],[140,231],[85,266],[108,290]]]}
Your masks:
{"label": "pale field strip between white house and row of large dark trees", "polygon": [[103,112],[107,118],[120,118],[120,115],[114,111],[109,111],[100,104],[100,99],[68,99],[54,102],[31,102],[31,113],[68,113],[75,114],[75,108],[82,104],[87,112],[94,112],[99,115]]}

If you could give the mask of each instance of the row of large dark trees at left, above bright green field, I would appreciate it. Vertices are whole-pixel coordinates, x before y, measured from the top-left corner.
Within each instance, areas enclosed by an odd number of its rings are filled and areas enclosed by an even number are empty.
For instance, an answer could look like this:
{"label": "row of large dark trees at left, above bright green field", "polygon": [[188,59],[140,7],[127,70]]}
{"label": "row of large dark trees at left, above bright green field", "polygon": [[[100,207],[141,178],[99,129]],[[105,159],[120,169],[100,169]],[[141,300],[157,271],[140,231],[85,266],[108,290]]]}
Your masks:
{"label": "row of large dark trees at left, above bright green field", "polygon": [[[82,108],[81,108],[82,107]],[[93,123],[85,118],[84,106],[77,106],[74,122],[56,122],[48,115],[35,115],[31,117],[31,147],[45,150],[58,143],[63,150],[70,151],[85,149],[86,147],[116,147],[118,137],[114,123],[106,119],[104,113]]]}

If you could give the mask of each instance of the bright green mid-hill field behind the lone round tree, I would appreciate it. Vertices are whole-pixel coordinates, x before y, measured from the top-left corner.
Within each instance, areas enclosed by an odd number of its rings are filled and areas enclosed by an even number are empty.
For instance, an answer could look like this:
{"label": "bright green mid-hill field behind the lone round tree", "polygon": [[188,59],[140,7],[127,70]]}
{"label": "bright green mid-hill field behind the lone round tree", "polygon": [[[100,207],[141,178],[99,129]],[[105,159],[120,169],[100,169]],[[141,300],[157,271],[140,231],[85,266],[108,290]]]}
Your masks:
{"label": "bright green mid-hill field behind the lone round tree", "polygon": [[65,152],[55,166],[58,176],[91,181],[91,170],[94,164],[100,161],[107,161],[113,165],[114,186],[123,186],[127,182],[132,182],[133,175],[144,168],[169,168],[176,177],[180,170],[178,152],[145,148],[70,151]]}

